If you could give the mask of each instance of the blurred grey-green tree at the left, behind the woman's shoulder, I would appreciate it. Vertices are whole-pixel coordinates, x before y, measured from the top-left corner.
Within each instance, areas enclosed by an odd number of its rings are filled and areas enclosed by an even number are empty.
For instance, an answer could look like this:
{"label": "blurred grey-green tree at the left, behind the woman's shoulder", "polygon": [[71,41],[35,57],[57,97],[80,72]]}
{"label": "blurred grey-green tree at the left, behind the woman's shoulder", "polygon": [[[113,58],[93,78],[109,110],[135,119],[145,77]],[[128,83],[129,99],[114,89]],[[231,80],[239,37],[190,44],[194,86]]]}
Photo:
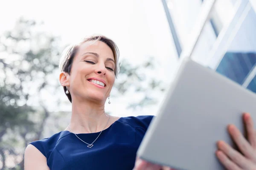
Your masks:
{"label": "blurred grey-green tree at the left, behind the woman's shoulder", "polygon": [[[13,158],[23,168],[23,150],[41,139],[49,111],[42,91],[54,90],[49,79],[58,67],[58,38],[38,31],[42,24],[20,18],[15,28],[0,37],[0,155],[2,169]],[[47,86],[51,86],[51,88]],[[22,156],[23,157],[23,156]],[[1,165],[0,165],[1,166]]]}

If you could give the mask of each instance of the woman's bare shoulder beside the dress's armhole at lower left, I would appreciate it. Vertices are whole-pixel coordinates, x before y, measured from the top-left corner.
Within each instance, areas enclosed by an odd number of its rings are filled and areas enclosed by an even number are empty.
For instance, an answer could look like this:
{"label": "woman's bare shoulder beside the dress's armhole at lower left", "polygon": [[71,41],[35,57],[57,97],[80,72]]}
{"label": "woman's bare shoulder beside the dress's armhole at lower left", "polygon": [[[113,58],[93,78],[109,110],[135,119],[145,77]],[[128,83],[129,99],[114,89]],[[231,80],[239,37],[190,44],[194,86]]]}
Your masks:
{"label": "woman's bare shoulder beside the dress's armhole at lower left", "polygon": [[46,157],[32,144],[26,147],[24,158],[25,170],[49,170]]}

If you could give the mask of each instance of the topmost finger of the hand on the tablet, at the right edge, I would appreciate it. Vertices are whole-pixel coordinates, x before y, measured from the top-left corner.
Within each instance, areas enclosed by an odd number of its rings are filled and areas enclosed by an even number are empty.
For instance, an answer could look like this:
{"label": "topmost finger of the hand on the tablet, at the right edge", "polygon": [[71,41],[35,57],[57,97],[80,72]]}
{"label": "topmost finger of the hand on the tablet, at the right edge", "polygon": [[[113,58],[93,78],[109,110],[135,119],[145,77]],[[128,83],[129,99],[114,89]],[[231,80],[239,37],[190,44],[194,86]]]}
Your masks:
{"label": "topmost finger of the hand on the tablet, at the right edge", "polygon": [[244,114],[244,122],[247,130],[248,141],[256,149],[256,130],[254,129],[253,119],[249,113]]}

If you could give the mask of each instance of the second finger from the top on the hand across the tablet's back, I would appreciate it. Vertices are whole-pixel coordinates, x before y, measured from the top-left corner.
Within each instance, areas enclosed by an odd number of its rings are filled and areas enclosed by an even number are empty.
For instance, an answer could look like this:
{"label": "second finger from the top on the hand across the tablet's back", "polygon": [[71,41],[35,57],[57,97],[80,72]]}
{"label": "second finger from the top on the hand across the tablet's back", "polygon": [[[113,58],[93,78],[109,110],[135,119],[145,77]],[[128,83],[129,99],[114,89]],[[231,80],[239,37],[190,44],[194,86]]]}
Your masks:
{"label": "second finger from the top on the hand across the tablet's back", "polygon": [[[236,142],[237,146],[241,150],[241,152],[249,159],[253,159],[253,147],[249,144],[249,142],[244,138],[242,133],[236,128],[234,125],[230,125],[228,127],[229,133],[233,140]],[[253,159],[254,160],[254,159]]]}

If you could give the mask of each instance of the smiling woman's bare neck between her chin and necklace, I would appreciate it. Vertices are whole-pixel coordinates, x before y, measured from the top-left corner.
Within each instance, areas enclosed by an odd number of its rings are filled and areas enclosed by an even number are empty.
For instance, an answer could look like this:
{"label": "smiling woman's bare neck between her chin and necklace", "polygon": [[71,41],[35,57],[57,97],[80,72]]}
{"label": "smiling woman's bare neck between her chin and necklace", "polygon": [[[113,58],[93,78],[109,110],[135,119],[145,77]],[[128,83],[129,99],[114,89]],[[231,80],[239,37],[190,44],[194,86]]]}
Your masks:
{"label": "smiling woman's bare neck between her chin and necklace", "polygon": [[[109,115],[105,113],[104,108],[105,105],[95,102],[72,101],[72,115],[69,127],[73,133],[95,133],[102,131],[109,119]],[[105,128],[107,127],[108,125]]]}

